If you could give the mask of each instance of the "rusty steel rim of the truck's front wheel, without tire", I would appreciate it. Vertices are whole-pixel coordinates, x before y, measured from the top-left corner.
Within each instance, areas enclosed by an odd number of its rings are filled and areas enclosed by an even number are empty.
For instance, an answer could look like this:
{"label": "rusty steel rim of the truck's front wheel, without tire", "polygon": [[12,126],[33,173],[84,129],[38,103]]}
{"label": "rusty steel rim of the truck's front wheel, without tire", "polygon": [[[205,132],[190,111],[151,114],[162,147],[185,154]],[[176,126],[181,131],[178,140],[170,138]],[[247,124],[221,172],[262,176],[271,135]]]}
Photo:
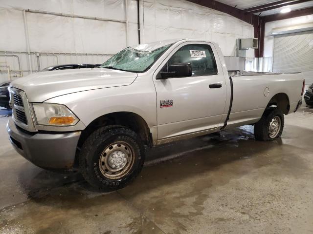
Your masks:
{"label": "rusty steel rim of the truck's front wheel, without tire", "polygon": [[134,150],[126,142],[115,142],[101,154],[99,168],[103,176],[119,179],[125,176],[134,164]]}

